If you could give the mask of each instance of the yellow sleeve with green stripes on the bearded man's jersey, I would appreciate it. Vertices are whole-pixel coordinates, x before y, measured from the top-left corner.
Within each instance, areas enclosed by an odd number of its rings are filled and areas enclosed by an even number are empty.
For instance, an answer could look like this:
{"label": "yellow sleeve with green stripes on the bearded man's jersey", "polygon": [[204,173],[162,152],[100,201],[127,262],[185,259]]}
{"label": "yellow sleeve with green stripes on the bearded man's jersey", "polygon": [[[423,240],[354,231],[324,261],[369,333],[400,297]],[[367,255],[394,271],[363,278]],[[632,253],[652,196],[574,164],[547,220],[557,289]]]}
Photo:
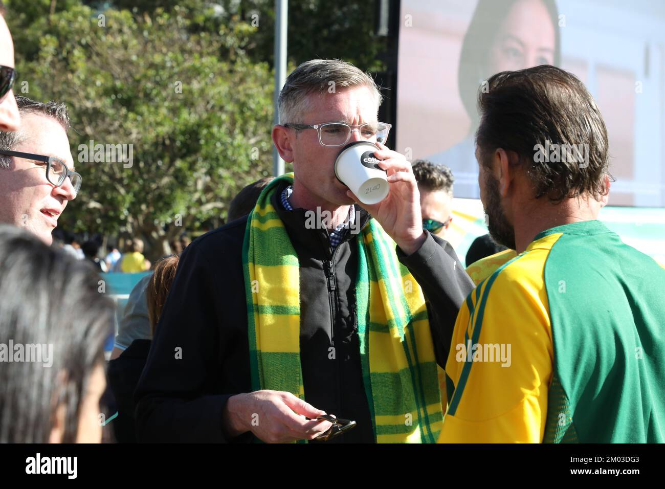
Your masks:
{"label": "yellow sleeve with green stripes on the bearded man's jersey", "polygon": [[539,249],[519,257],[460,309],[446,364],[455,390],[439,442],[543,440],[553,365],[546,257]]}

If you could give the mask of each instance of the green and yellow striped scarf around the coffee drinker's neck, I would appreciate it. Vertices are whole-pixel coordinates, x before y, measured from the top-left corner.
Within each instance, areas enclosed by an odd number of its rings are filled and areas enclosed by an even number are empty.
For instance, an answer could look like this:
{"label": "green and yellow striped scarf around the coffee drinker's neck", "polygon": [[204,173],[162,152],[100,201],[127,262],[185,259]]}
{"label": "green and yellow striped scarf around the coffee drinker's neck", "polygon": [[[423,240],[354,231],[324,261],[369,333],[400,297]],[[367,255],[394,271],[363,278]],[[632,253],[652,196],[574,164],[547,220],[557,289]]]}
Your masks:
{"label": "green and yellow striped scarf around the coffee drinker's neck", "polygon": [[[251,381],[253,391],[287,391],[305,399],[300,265],[271,204],[281,182],[293,183],[293,174],[263,190],[243,243]],[[355,241],[360,358],[374,436],[380,443],[434,443],[443,414],[424,296],[374,219]]]}

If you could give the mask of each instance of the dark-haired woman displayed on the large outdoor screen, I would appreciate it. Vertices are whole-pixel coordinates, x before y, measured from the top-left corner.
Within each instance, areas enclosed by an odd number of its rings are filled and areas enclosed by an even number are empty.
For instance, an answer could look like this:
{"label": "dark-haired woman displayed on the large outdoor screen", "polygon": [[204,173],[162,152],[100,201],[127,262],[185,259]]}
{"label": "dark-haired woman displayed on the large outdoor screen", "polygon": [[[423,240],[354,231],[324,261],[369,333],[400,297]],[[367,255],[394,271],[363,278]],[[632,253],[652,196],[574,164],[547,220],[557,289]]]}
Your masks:
{"label": "dark-haired woman displayed on the large outdoor screen", "polygon": [[458,90],[471,120],[466,138],[430,160],[451,168],[458,196],[477,198],[473,134],[476,94],[499,71],[561,63],[559,11],[555,0],[479,0],[464,35]]}

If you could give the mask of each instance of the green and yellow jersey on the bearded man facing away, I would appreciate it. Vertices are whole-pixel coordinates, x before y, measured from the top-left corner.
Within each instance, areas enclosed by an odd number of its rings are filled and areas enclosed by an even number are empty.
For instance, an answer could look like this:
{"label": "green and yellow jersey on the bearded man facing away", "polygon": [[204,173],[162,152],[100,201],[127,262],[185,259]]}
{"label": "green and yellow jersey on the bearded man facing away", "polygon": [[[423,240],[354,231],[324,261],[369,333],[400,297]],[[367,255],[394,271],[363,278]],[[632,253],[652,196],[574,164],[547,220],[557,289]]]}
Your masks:
{"label": "green and yellow jersey on the bearded man facing away", "polygon": [[664,442],[665,270],[599,221],[552,228],[458,315],[440,442]]}

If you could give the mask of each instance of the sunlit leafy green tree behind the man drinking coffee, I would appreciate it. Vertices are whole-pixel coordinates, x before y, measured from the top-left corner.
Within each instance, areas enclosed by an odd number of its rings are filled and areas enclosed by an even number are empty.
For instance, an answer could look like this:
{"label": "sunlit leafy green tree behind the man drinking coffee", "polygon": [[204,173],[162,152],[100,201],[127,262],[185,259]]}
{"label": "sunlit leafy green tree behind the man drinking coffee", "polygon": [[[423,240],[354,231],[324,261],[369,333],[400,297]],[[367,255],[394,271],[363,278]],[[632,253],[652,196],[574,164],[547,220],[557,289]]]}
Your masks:
{"label": "sunlit leafy green tree behind the man drinking coffee", "polygon": [[[220,23],[214,9],[66,7],[7,15],[19,33],[17,92],[70,108],[84,182],[61,227],[142,236],[154,258],[180,233],[223,222],[231,198],[271,169],[273,79],[243,49],[257,29]],[[79,145],[90,140],[132,144],[132,166],[85,162]]]}

